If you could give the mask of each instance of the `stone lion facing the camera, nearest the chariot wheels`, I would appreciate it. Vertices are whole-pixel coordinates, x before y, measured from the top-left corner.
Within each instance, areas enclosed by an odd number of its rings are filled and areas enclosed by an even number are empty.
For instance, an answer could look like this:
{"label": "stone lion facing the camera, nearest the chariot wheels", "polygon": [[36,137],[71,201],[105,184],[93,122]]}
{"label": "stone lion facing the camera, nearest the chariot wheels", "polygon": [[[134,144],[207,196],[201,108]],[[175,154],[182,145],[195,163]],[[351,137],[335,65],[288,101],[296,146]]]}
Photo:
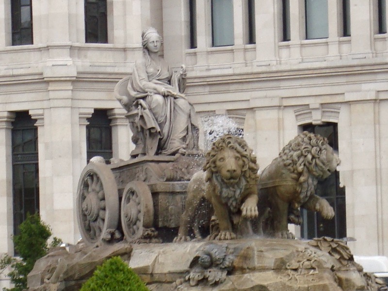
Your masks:
{"label": "stone lion facing the camera, nearest the chariot wheels", "polygon": [[[218,220],[215,240],[235,239],[239,231],[251,233],[247,221],[258,216],[259,166],[246,142],[226,134],[213,143],[205,157],[203,171],[195,173],[189,182],[186,208],[174,242],[190,240],[189,227],[195,228],[195,216],[204,198]],[[199,236],[198,231],[195,235]]]}

